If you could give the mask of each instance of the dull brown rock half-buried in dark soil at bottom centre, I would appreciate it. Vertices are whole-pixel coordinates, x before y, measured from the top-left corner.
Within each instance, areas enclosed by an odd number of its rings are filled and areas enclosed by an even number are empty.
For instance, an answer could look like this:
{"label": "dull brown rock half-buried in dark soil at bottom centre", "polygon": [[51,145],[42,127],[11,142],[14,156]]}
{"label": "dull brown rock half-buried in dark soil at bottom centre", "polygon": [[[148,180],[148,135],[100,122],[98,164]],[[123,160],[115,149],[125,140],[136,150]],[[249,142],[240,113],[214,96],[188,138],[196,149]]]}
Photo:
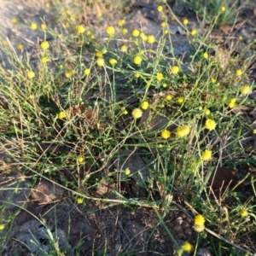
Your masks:
{"label": "dull brown rock half-buried in dark soil at bottom centre", "polygon": [[[137,250],[138,253],[142,253],[147,244],[147,236],[147,231],[143,226],[132,220],[127,221],[122,236],[123,250]],[[139,255],[138,253],[136,255]]]}

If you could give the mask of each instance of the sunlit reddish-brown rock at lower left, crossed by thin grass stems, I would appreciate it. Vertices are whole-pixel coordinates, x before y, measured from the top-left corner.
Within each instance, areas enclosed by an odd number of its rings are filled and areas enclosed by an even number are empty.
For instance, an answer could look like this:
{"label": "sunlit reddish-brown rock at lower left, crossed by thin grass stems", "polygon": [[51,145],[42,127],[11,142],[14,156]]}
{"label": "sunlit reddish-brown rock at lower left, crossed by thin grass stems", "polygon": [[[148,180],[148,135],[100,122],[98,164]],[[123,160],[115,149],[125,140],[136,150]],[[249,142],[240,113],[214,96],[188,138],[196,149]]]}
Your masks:
{"label": "sunlit reddish-brown rock at lower left, crossed by thin grass stems", "polygon": [[32,200],[38,201],[40,204],[46,204],[57,199],[58,196],[64,193],[64,189],[56,186],[54,183],[50,183],[47,180],[43,180],[32,189]]}

